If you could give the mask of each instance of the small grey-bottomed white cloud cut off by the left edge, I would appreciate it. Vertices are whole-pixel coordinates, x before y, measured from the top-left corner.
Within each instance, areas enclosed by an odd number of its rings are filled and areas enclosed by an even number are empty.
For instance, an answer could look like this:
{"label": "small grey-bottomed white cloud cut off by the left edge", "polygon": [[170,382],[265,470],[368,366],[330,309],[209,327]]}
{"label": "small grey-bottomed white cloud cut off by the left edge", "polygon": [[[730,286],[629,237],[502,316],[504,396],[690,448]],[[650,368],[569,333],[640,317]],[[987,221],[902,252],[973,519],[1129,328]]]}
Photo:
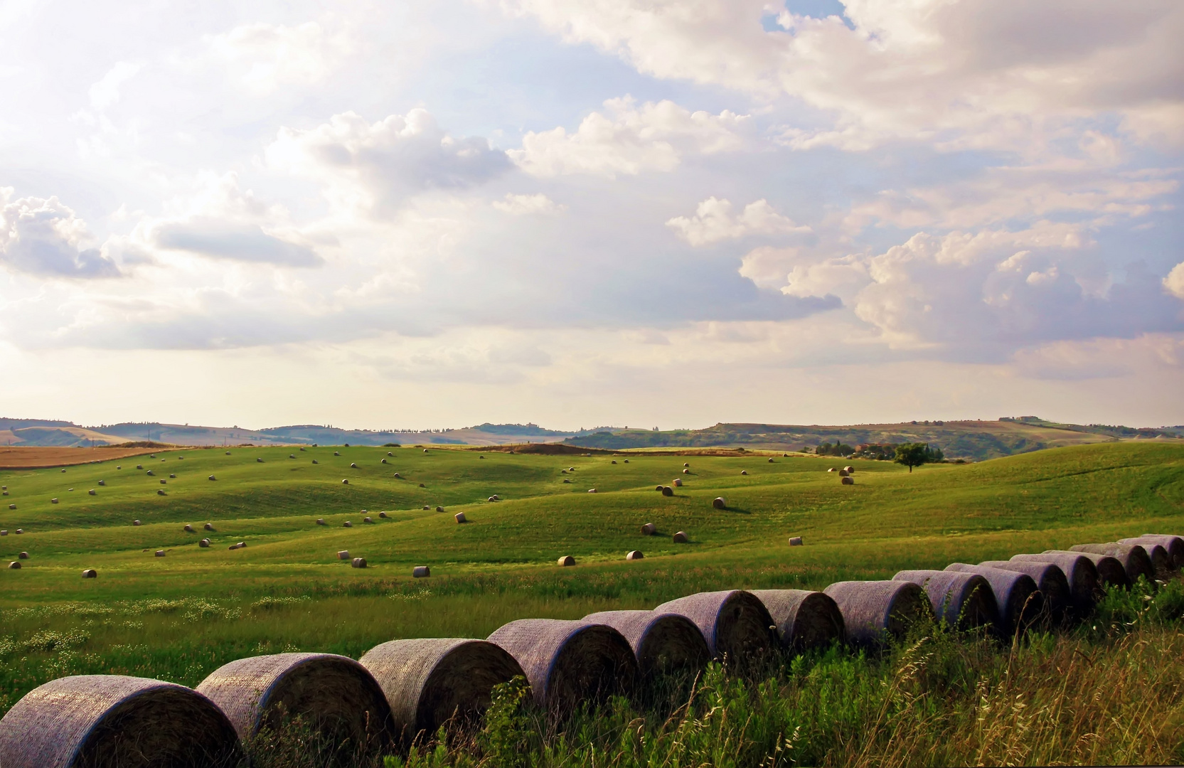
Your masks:
{"label": "small grey-bottomed white cloud cut off by the left edge", "polygon": [[12,187],[0,188],[0,264],[52,277],[120,277],[120,267],[92,246],[86,222],[73,211],[57,198],[14,194]]}

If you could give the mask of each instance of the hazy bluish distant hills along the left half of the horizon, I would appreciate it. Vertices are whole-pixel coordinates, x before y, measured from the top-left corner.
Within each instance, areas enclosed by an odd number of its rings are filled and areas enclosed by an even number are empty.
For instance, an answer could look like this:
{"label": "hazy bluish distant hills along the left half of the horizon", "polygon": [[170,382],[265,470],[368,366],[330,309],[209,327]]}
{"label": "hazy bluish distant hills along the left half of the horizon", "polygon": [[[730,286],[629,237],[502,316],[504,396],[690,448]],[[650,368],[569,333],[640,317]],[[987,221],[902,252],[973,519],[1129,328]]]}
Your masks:
{"label": "hazy bluish distant hills along the left half of the horizon", "polygon": [[90,446],[152,440],[172,445],[503,445],[507,443],[558,443],[579,432],[556,432],[536,424],[482,424],[461,430],[390,431],[339,430],[321,425],[295,425],[246,430],[204,427],[156,421],[81,427],[70,421],[0,419],[0,445]]}

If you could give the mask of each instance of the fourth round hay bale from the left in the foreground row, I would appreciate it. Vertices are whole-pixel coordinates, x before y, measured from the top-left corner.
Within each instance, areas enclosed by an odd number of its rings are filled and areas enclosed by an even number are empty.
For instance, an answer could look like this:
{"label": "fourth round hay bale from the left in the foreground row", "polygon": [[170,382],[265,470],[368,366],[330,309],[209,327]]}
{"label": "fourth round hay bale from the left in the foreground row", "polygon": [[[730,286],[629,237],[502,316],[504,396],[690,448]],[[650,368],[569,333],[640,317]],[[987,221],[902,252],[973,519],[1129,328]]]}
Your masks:
{"label": "fourth round hay bale from the left in the foreground row", "polygon": [[630,693],[637,659],[629,640],[604,624],[519,619],[489,635],[519,663],[534,701],[559,715],[584,702]]}

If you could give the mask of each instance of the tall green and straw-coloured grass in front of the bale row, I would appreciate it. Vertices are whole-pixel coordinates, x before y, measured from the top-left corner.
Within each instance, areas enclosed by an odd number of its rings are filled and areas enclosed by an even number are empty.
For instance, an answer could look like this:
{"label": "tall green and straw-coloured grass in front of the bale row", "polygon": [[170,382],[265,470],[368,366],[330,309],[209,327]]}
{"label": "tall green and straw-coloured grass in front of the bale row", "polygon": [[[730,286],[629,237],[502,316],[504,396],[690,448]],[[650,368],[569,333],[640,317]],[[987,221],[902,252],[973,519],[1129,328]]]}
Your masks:
{"label": "tall green and straw-coloured grass in front of the bale row", "polygon": [[915,627],[879,657],[835,647],[757,679],[713,665],[673,711],[618,698],[548,722],[521,686],[483,729],[388,768],[442,766],[1167,764],[1184,759],[1184,587],[1106,598],[1010,647]]}

